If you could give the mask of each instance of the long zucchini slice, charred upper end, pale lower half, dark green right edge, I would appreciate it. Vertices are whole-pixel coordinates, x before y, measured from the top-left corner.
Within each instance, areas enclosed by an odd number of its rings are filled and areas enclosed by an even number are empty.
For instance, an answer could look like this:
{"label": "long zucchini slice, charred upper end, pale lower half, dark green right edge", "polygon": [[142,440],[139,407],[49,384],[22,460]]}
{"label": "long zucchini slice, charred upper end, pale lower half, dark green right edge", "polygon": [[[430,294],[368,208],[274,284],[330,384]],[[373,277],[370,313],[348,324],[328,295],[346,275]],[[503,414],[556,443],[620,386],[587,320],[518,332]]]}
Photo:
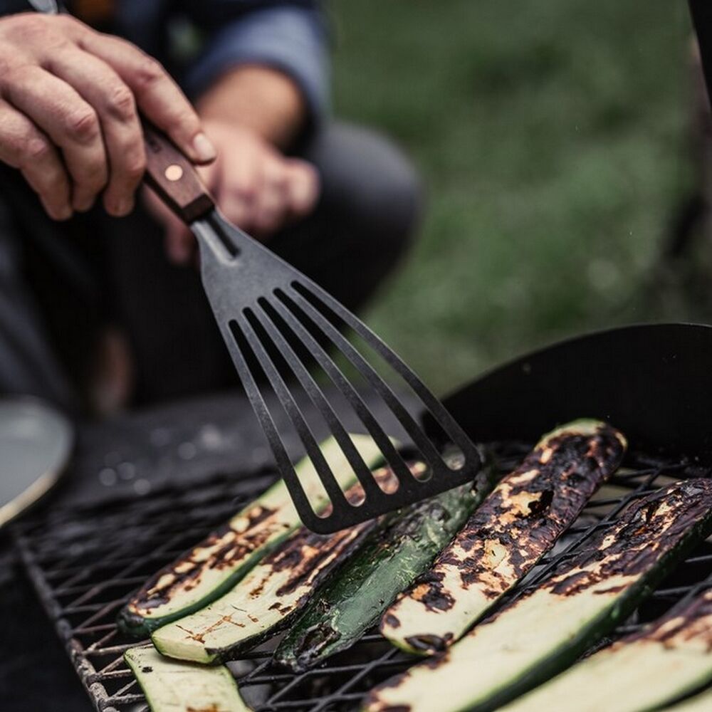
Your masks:
{"label": "long zucchini slice, charred upper end, pale lower half, dark green right edge", "polygon": [[652,493],[439,659],[377,687],[365,708],[498,708],[572,664],[710,530],[712,481],[694,479]]}

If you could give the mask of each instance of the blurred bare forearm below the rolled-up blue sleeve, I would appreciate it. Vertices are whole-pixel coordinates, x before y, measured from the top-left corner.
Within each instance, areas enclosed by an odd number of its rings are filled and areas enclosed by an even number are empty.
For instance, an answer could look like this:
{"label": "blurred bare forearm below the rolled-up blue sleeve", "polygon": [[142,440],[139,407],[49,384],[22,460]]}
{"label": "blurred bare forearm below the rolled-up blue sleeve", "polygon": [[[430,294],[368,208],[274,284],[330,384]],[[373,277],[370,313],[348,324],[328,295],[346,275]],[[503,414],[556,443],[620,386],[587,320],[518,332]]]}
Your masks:
{"label": "blurred bare forearm below the rolled-up blue sleeve", "polygon": [[307,104],[298,85],[268,66],[241,65],[221,75],[197,100],[204,120],[253,130],[285,148],[305,125]]}

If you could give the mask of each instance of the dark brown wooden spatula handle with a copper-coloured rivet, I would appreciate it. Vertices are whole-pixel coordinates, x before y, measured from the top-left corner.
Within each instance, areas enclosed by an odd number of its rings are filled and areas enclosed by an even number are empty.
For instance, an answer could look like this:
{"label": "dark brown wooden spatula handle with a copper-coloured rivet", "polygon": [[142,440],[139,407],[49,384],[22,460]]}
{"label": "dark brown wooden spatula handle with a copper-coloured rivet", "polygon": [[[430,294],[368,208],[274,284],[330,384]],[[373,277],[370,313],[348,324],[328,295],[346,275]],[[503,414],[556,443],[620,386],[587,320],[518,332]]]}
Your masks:
{"label": "dark brown wooden spatula handle with a copper-coloured rivet", "polygon": [[143,124],[146,145],[145,182],[188,224],[211,211],[215,204],[194,165],[172,141],[148,122]]}

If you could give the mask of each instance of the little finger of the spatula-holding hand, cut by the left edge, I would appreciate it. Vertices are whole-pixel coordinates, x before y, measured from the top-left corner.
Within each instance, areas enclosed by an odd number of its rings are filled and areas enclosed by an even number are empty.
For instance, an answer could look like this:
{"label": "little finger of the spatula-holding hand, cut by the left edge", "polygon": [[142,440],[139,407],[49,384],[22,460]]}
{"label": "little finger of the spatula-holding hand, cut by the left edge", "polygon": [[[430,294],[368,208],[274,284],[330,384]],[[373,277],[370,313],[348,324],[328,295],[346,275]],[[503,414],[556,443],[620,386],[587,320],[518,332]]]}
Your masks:
{"label": "little finger of the spatula-holding hand, cut by the left edge", "polygon": [[25,115],[0,101],[0,160],[19,168],[50,217],[72,214],[67,172],[49,138]]}

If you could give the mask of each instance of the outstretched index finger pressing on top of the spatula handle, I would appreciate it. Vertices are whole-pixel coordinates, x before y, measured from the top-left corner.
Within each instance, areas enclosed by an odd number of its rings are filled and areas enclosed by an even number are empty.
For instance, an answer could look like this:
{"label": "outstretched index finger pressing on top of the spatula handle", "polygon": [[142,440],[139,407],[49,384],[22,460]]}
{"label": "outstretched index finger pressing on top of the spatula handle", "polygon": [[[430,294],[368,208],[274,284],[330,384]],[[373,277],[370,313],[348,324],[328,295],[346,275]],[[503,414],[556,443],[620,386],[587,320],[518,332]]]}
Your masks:
{"label": "outstretched index finger pressing on top of the spatula handle", "polygon": [[216,157],[192,105],[166,70],[131,43],[108,35],[85,33],[86,51],[110,64],[130,87],[145,116],[164,130],[187,157],[209,163]]}

